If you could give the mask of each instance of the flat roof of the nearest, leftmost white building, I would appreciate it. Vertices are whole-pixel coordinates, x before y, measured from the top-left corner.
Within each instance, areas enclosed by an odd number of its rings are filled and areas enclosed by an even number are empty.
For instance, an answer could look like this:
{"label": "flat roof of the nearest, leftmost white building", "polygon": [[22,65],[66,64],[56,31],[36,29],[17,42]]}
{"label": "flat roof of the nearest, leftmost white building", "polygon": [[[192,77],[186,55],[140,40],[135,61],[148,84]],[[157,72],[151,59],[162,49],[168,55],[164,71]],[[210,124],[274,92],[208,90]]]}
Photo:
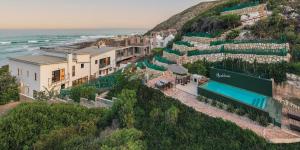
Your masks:
{"label": "flat roof of the nearest, leftmost white building", "polygon": [[20,57],[11,57],[9,59],[13,61],[25,62],[34,65],[51,65],[51,64],[59,64],[59,63],[67,62],[65,58],[47,56],[47,55],[27,55],[27,56],[20,56]]}

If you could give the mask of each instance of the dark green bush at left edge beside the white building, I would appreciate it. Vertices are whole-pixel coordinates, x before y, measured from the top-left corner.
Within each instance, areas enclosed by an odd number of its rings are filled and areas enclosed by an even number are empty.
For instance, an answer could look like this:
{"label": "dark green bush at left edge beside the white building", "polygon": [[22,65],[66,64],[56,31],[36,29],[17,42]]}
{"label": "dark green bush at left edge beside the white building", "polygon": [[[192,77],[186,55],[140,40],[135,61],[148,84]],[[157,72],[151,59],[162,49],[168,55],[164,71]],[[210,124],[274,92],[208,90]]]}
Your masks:
{"label": "dark green bush at left edge beside the white building", "polygon": [[9,73],[8,66],[0,68],[0,105],[19,100],[19,86]]}

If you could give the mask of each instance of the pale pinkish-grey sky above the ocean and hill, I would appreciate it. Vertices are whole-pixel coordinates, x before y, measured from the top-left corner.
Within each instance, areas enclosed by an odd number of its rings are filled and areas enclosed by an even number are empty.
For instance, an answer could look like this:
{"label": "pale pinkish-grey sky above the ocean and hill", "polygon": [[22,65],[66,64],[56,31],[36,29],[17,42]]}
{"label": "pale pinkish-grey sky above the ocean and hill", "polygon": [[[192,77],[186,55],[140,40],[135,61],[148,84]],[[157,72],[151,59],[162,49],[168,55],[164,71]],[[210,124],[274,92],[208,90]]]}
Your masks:
{"label": "pale pinkish-grey sky above the ocean and hill", "polygon": [[201,1],[0,0],[0,29],[146,29]]}

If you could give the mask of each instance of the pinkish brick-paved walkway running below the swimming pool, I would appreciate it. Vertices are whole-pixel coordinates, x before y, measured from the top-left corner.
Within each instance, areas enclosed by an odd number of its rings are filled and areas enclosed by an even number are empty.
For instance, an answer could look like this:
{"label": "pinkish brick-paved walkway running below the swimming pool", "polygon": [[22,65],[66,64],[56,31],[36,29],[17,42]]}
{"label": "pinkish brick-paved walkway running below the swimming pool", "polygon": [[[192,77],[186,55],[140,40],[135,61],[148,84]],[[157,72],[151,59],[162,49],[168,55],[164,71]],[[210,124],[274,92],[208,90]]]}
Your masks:
{"label": "pinkish brick-paved walkway running below the swimming pool", "polygon": [[[161,78],[155,78],[148,82],[148,86],[153,87],[153,84],[160,79],[169,79],[170,76],[164,76]],[[165,95],[178,99],[186,106],[194,108],[196,111],[204,113],[214,118],[222,118],[227,121],[234,122],[236,125],[243,129],[249,129],[255,132],[257,135],[264,137],[266,140],[272,143],[295,143],[300,142],[300,136],[292,133],[291,131],[281,129],[275,126],[263,127],[257,122],[250,120],[249,118],[242,117],[233,113],[229,113],[225,110],[211,105],[205,104],[197,100],[197,97],[182,91],[177,88],[172,88],[167,91],[163,91]]]}

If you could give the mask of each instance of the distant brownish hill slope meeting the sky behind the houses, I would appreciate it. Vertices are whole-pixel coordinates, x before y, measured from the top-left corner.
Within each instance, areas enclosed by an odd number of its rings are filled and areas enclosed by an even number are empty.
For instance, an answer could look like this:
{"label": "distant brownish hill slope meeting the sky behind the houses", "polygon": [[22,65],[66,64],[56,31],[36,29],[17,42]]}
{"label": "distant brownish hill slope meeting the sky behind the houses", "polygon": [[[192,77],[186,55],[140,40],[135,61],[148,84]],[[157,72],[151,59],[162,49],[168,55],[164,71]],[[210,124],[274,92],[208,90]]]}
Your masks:
{"label": "distant brownish hill slope meeting the sky behind the houses", "polygon": [[189,21],[189,20],[193,19],[194,17],[198,16],[199,14],[215,7],[216,5],[223,3],[224,1],[226,1],[226,0],[202,2],[195,6],[192,6],[188,9],[184,10],[183,12],[172,16],[168,20],[158,24],[152,30],[148,31],[147,34],[149,34],[152,31],[160,31],[160,30],[166,30],[166,29],[181,30],[181,28],[187,21]]}

